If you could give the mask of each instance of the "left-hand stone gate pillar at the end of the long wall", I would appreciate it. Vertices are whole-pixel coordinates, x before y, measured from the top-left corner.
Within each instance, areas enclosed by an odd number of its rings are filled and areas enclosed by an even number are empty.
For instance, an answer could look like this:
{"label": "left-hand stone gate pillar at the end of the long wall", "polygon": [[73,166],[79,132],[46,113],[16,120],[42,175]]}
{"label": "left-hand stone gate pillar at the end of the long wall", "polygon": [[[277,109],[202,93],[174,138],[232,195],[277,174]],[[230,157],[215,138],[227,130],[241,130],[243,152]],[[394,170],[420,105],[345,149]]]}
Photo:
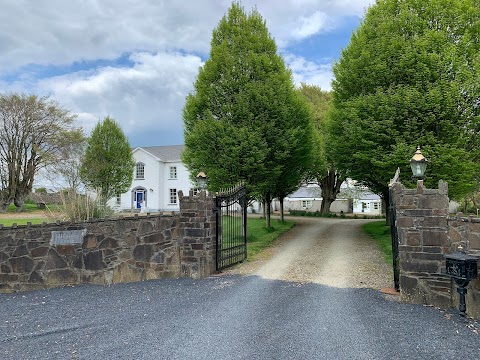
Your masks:
{"label": "left-hand stone gate pillar at the end of the long wall", "polygon": [[215,214],[211,195],[190,191],[180,200],[180,262],[181,276],[203,278],[215,272]]}

